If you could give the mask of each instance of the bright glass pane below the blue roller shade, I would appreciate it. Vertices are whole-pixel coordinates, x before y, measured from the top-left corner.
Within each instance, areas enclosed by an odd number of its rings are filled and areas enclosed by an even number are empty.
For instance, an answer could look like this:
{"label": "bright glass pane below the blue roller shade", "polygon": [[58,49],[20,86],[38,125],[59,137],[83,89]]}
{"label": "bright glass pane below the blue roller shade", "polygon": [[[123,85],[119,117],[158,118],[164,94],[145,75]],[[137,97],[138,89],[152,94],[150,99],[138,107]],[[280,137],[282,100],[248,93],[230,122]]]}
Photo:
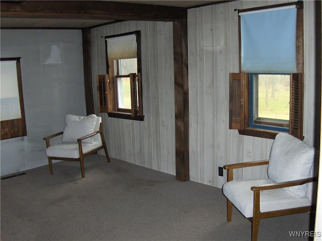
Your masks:
{"label": "bright glass pane below the blue roller shade", "polygon": [[258,117],[288,121],[289,101],[289,75],[258,75]]}

